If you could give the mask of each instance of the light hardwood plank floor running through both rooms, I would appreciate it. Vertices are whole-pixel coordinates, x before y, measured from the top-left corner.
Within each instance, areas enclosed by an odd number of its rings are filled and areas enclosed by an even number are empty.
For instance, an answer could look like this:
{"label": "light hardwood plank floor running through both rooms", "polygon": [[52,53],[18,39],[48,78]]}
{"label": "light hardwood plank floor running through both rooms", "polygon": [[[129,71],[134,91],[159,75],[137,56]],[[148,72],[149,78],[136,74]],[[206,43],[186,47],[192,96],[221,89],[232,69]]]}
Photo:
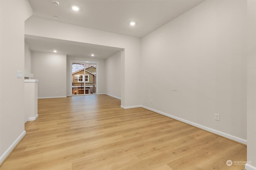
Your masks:
{"label": "light hardwood plank floor running through both rooms", "polygon": [[0,170],[242,170],[246,146],[106,95],[38,100]]}

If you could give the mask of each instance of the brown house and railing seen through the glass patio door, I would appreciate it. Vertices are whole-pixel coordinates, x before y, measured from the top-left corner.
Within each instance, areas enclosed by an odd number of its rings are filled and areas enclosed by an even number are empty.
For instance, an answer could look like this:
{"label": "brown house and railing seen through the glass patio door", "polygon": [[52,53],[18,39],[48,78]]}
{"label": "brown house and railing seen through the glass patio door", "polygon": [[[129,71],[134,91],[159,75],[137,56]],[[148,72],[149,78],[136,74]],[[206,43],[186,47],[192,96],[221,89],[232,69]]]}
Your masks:
{"label": "brown house and railing seen through the glass patio door", "polygon": [[96,94],[96,64],[72,63],[72,95]]}

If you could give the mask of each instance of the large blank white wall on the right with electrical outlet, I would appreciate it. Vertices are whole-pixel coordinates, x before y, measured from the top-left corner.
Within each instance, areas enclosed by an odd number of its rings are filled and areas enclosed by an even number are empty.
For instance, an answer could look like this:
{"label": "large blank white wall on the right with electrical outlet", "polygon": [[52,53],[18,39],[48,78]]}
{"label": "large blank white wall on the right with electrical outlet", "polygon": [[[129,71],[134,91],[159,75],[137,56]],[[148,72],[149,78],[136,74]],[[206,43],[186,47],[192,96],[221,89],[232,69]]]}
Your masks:
{"label": "large blank white wall on the right with electrical outlet", "polygon": [[246,1],[205,1],[158,28],[142,38],[142,105],[246,143],[245,41]]}

